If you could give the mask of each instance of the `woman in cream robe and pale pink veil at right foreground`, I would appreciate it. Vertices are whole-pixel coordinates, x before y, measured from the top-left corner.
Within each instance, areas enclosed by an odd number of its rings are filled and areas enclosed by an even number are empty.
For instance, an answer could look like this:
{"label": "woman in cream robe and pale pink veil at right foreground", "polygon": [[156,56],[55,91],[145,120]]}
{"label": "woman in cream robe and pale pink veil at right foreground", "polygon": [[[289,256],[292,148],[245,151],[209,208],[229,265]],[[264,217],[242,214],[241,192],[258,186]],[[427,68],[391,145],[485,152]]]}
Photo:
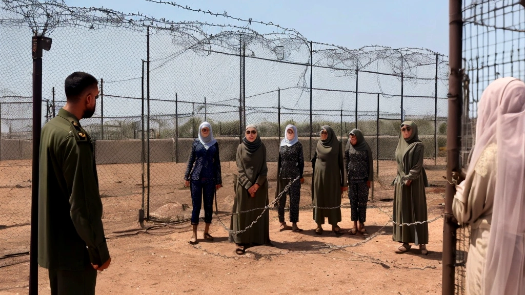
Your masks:
{"label": "woman in cream robe and pale pink veil at right foreground", "polygon": [[492,82],[478,104],[476,145],[453,213],[470,226],[467,294],[525,294],[525,83]]}

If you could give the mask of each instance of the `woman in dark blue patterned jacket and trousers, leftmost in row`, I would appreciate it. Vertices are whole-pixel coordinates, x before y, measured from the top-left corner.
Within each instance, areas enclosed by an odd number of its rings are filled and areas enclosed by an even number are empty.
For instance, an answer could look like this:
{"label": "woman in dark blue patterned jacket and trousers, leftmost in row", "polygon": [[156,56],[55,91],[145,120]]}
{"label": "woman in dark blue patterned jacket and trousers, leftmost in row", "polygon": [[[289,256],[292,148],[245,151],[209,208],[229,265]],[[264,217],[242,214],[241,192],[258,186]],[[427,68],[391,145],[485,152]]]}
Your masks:
{"label": "woman in dark blue patterned jacket and trousers, leftmost in row", "polygon": [[203,122],[199,126],[198,139],[192,145],[192,153],[186,173],[184,186],[190,186],[192,194],[192,225],[193,236],[191,244],[197,243],[198,217],[201,213],[201,204],[204,198],[204,239],[213,241],[209,234],[209,225],[212,223],[213,196],[216,189],[222,187],[220,176],[219,145],[213,138],[212,125]]}

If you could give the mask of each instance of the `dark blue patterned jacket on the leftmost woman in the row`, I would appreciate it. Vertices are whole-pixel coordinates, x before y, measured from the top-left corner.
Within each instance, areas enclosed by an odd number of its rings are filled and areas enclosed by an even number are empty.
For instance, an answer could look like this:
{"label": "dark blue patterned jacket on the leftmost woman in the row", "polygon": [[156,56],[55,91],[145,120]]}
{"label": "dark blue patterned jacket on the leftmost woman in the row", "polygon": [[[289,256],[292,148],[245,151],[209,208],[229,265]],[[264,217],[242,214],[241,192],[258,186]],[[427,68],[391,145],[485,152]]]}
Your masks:
{"label": "dark blue patterned jacket on the leftmost woman in the row", "polygon": [[184,180],[199,180],[201,178],[212,178],[215,184],[223,183],[220,175],[219,145],[215,143],[206,150],[204,145],[195,139]]}

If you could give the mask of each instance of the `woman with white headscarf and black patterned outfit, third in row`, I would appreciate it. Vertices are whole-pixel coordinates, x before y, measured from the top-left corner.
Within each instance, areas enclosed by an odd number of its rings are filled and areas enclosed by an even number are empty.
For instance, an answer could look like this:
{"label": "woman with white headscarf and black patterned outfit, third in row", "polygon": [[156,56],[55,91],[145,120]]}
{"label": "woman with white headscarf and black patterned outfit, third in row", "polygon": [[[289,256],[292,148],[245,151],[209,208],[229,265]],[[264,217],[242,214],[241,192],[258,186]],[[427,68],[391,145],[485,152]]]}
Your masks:
{"label": "woman with white headscarf and black patterned outfit, third in row", "polygon": [[[302,177],[303,170],[304,158],[302,154],[302,144],[299,142],[297,127],[290,124],[285,128],[285,138],[282,139],[281,147],[279,149],[279,159],[277,161],[277,189],[275,191],[275,197],[279,197],[279,194],[290,181],[295,180],[297,177],[299,177],[299,179],[291,183],[288,187],[288,191],[283,192],[277,202],[281,230],[302,230],[297,226],[297,223],[299,222],[301,183],[304,182],[304,178]],[[292,227],[288,226],[285,221],[287,193],[290,196],[290,222],[292,223]]]}

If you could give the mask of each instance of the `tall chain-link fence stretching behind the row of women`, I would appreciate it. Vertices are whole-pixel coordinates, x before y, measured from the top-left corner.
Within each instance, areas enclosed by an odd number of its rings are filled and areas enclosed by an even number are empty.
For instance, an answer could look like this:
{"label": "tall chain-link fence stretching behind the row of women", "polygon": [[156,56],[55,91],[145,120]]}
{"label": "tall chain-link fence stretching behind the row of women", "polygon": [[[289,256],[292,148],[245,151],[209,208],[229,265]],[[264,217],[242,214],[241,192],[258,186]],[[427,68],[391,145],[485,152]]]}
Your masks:
{"label": "tall chain-link fence stretching behind the row of women", "polygon": [[[0,26],[4,255],[29,249],[33,117],[31,30],[7,8]],[[400,123],[414,120],[425,165],[445,164],[448,67],[447,57],[436,52],[347,49],[280,27],[258,33],[255,24],[172,23],[107,9],[67,9],[75,14],[50,31],[53,48],[43,57],[41,115],[47,121],[64,106],[62,85],[71,72],[100,79],[97,110],[81,124],[95,140],[103,221],[110,233],[137,227],[139,209],[150,220],[188,218],[184,172],[205,120],[220,146],[225,186],[220,194],[233,192],[237,145],[251,123],[258,125],[269,162],[278,159],[286,125],[295,124],[307,167],[322,125],[330,125],[343,143],[357,127],[372,147],[375,185],[390,187]],[[268,166],[272,185],[277,165]],[[167,213],[177,208],[180,214]]]}

